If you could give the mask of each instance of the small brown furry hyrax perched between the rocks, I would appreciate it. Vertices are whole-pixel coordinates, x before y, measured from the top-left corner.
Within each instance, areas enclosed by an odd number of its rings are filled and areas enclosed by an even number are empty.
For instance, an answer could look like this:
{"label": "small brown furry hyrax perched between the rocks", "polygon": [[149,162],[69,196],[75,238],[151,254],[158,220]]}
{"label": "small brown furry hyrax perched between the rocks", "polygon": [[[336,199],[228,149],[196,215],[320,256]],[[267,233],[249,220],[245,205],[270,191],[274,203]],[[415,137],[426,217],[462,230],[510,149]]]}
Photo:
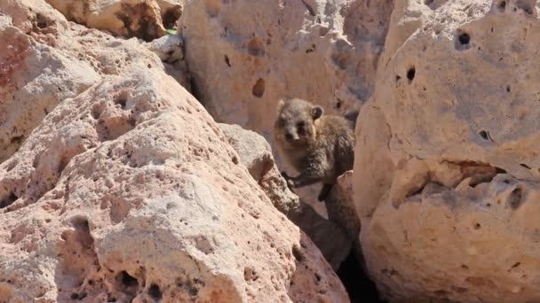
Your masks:
{"label": "small brown furry hyrax perched between the rocks", "polygon": [[322,113],[321,106],[302,99],[280,100],[274,124],[280,155],[299,172],[283,177],[290,188],[323,183],[319,201],[327,198],[339,175],[353,169],[354,161],[355,121]]}

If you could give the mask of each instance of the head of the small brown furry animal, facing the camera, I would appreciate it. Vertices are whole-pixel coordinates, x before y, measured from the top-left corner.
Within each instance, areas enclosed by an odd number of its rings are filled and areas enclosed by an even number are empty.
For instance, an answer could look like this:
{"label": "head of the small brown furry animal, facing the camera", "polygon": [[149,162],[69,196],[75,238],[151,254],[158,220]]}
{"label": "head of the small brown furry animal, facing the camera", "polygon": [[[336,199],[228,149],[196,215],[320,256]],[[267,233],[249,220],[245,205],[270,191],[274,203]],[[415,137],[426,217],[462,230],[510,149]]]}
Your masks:
{"label": "head of the small brown furry animal, facing the camera", "polygon": [[280,100],[274,137],[284,147],[294,148],[310,144],[316,136],[314,121],[321,118],[322,107],[302,99]]}

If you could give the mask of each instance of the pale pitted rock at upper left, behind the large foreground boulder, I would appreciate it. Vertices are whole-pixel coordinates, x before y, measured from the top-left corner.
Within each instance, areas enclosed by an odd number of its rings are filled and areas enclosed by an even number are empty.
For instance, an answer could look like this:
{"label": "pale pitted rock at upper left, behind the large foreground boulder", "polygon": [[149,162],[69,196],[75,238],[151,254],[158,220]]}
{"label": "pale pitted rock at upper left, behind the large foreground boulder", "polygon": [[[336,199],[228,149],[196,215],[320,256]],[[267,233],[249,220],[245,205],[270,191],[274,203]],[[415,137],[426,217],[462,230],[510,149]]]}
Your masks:
{"label": "pale pitted rock at upper left, behind the large foreground boulder", "polygon": [[56,105],[107,74],[152,68],[187,85],[181,66],[162,63],[134,40],[68,22],[41,0],[0,0],[0,162]]}

